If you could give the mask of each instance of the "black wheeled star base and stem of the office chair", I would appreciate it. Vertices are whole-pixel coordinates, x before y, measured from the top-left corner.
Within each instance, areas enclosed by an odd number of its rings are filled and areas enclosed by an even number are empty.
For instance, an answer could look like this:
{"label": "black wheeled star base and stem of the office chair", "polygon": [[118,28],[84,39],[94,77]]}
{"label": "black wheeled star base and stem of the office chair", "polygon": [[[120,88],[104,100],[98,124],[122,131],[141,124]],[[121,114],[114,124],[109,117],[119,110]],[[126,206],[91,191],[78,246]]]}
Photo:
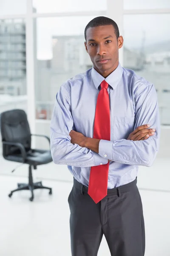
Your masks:
{"label": "black wheeled star base and stem of the office chair", "polygon": [[12,194],[16,191],[30,190],[31,191],[31,198],[29,198],[29,200],[33,201],[34,200],[34,193],[33,193],[34,189],[49,189],[50,190],[49,195],[52,195],[52,188],[42,186],[41,181],[33,183],[31,166],[29,166],[29,183],[28,184],[27,183],[18,183],[17,185],[18,185],[18,188],[11,191],[11,193],[8,195],[9,198],[11,198]]}

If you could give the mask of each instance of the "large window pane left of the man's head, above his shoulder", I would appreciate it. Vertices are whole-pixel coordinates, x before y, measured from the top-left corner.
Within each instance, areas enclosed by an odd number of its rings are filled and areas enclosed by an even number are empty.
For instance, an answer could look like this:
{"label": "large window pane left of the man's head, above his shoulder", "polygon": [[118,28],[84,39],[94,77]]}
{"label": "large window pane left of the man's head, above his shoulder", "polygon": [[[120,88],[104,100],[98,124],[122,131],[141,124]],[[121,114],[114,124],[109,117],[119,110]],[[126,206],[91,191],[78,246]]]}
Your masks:
{"label": "large window pane left of the man's head, above his shoulder", "polygon": [[36,116],[51,119],[55,96],[67,79],[92,67],[84,46],[84,29],[94,17],[49,17],[37,28]]}

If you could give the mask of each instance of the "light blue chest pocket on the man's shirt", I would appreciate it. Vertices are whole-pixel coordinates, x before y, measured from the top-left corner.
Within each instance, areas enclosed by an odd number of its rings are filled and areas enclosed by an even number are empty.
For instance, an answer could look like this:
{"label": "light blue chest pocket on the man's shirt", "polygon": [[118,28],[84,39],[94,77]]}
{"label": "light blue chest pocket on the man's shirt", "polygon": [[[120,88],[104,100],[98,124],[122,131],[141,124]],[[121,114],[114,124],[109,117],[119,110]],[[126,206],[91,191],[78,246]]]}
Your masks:
{"label": "light blue chest pocket on the man's shirt", "polygon": [[113,121],[113,141],[127,139],[129,134],[134,131],[135,116],[114,116]]}

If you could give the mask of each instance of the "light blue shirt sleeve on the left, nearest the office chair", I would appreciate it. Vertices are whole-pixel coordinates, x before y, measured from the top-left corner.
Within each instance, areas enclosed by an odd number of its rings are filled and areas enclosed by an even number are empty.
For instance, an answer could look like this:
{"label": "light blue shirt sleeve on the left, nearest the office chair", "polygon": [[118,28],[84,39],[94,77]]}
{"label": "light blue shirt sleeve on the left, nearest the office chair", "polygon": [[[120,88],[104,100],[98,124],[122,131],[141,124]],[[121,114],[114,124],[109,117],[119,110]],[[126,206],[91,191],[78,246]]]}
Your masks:
{"label": "light blue shirt sleeve on the left, nearest the office chair", "polygon": [[62,85],[56,96],[50,125],[51,156],[54,163],[77,167],[98,166],[108,163],[108,159],[101,157],[96,152],[71,143],[69,133],[73,127],[70,96]]}

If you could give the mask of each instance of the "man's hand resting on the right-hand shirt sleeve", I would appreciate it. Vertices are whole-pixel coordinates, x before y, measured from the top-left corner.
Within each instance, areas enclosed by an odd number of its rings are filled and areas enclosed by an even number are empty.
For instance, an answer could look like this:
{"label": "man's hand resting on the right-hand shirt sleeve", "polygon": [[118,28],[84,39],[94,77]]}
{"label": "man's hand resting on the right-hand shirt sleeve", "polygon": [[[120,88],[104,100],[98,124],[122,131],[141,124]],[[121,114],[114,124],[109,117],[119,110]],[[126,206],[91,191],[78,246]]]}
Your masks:
{"label": "man's hand resting on the right-hand shirt sleeve", "polygon": [[147,140],[150,136],[153,136],[154,134],[155,129],[148,129],[147,125],[141,125],[129,134],[127,140]]}

